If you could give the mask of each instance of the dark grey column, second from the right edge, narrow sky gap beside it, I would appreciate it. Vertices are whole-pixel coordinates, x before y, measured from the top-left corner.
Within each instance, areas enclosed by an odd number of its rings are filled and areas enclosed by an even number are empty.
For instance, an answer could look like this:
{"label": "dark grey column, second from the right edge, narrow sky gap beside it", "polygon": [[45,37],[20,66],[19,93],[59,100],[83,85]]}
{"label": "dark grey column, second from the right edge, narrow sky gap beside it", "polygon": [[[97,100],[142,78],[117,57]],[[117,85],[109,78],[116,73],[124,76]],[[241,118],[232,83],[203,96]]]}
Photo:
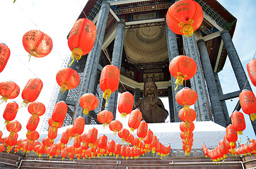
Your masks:
{"label": "dark grey column, second from the right edge, narrow sky gap beside it", "polygon": [[214,115],[214,122],[226,127],[226,120],[223,115],[221,101],[219,100],[219,94],[216,87],[216,82],[214,80],[214,72],[211,68],[211,62],[209,59],[209,54],[206,49],[204,40],[200,39],[197,41],[199,54],[201,56],[202,68],[204,70],[204,78],[206,80],[206,85],[209,92],[209,97],[211,101],[211,110]]}

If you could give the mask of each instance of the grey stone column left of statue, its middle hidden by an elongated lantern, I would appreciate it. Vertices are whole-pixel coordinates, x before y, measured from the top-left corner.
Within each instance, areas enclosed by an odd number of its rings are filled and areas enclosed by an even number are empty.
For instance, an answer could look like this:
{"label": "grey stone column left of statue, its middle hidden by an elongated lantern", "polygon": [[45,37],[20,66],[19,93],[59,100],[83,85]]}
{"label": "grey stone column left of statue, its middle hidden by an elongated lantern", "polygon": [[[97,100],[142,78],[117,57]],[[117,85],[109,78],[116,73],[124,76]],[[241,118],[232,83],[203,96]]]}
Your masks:
{"label": "grey stone column left of statue, its middle hidden by an elongated lantern", "polygon": [[[121,63],[122,63],[122,49],[124,45],[124,27],[125,23],[123,21],[120,21],[117,24],[117,32],[115,33],[115,44],[113,48],[113,54],[112,54],[112,65],[117,66],[119,70],[121,69]],[[116,115],[117,110],[117,96],[118,96],[118,89],[113,92],[110,95],[110,98],[107,101],[107,105],[105,109],[107,111],[111,111],[114,115]]]}

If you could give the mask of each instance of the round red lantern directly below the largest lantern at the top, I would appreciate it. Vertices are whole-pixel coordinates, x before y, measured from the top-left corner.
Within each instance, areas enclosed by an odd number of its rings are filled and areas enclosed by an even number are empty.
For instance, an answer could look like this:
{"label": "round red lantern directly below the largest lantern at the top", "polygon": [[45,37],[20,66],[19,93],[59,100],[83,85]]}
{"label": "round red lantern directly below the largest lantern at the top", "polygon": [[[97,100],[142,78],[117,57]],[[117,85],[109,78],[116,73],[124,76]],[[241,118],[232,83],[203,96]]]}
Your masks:
{"label": "round red lantern directly below the largest lantern at the top", "polygon": [[176,90],[178,85],[183,85],[183,80],[189,80],[195,75],[197,72],[197,63],[189,56],[176,56],[170,61],[169,71],[176,79]]}

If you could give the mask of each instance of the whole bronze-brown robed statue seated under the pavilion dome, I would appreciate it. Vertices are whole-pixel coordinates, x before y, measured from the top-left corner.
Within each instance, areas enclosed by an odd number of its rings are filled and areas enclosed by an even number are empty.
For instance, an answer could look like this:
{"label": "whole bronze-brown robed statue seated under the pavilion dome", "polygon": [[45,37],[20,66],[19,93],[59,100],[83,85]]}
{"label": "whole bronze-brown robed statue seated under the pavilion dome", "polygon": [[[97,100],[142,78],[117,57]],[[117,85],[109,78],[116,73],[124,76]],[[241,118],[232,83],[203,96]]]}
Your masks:
{"label": "whole bronze-brown robed statue seated under the pavilion dome", "polygon": [[163,102],[158,99],[158,89],[153,77],[146,79],[144,83],[144,98],[139,99],[135,104],[136,108],[142,113],[143,120],[146,123],[165,123],[168,116],[168,111],[165,110]]}

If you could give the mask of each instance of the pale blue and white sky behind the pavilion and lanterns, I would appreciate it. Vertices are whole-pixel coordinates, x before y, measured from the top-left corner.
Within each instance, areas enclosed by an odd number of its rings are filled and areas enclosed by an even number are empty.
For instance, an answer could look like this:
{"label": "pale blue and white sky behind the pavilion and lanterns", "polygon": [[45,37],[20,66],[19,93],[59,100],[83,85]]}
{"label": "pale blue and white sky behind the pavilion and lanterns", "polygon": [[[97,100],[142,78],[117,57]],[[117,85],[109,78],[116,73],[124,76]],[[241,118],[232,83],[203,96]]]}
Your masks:
{"label": "pale blue and white sky behind the pavilion and lanterns", "polygon": [[[255,54],[256,39],[253,31],[256,26],[255,18],[253,17],[256,15],[254,8],[256,1],[221,0],[219,2],[238,19],[233,43],[238,51],[243,67],[246,68],[246,64]],[[15,4],[12,1],[1,1],[0,42],[7,44],[11,49],[11,57],[4,71],[0,73],[0,82],[12,80],[22,90],[30,78],[40,78],[44,82],[44,87],[37,101],[47,106],[56,84],[55,76],[62,68],[65,58],[71,54],[67,45],[66,35],[71,30],[85,5],[86,1],[83,0],[17,0]],[[41,30],[52,37],[53,49],[48,56],[33,58],[28,62],[28,53],[23,49],[22,37],[29,30]],[[219,77],[225,94],[239,89],[228,59],[223,70],[219,73]],[[252,84],[251,86],[255,92],[255,87]],[[22,101],[21,94],[14,100],[20,104]],[[237,101],[238,99],[226,101],[230,114]],[[2,113],[5,106],[6,104],[0,104],[0,130],[4,128]],[[21,108],[18,111],[16,119],[23,125],[23,129],[19,132],[21,137],[25,137],[25,132],[27,131],[25,125],[29,117],[30,114],[27,108]],[[244,138],[246,135],[250,138],[255,138],[248,115],[245,115],[245,117],[247,128],[244,132],[243,142],[245,142]],[[43,117],[40,118],[40,125],[42,120]],[[4,133],[8,134],[6,130]]]}

